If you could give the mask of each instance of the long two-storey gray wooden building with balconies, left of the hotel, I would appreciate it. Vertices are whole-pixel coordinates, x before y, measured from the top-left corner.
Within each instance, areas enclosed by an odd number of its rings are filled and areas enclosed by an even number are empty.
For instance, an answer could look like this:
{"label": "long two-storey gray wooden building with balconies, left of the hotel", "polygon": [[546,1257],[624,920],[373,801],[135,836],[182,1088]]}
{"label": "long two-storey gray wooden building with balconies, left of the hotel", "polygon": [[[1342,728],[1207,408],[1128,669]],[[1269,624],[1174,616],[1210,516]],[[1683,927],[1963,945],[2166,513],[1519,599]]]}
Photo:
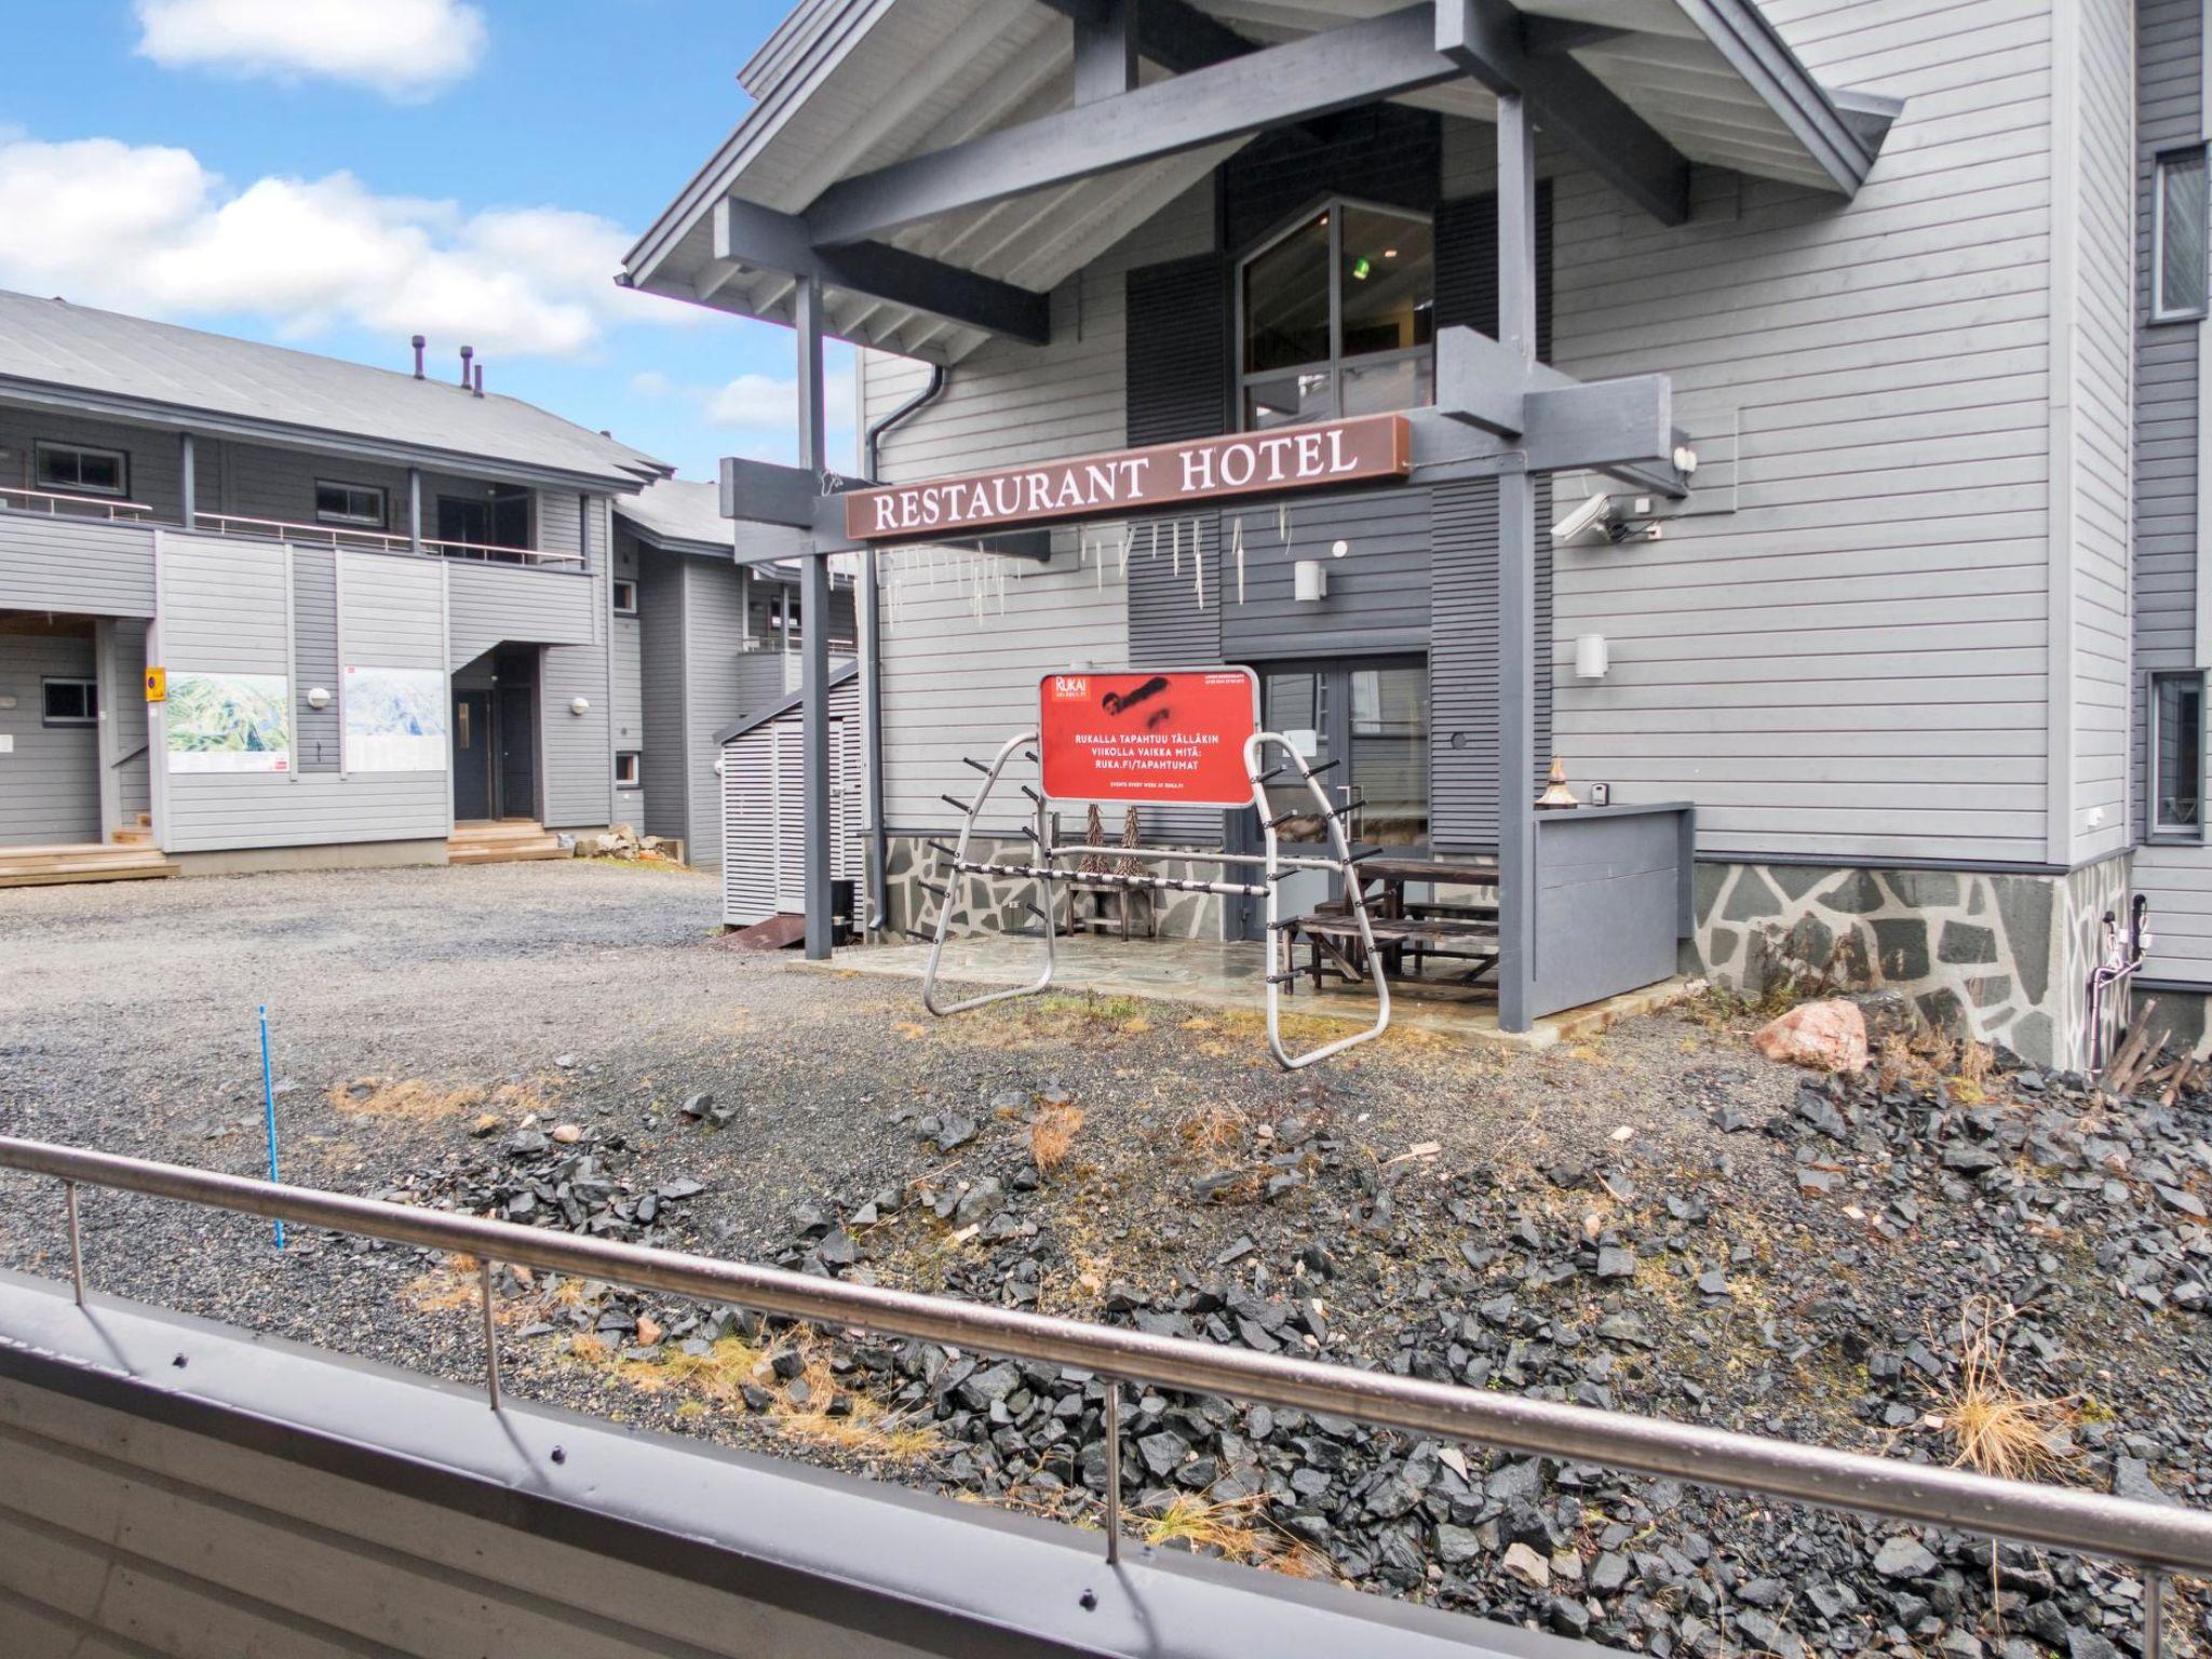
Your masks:
{"label": "long two-storey gray wooden building with balconies, left of the hotel", "polygon": [[617,823],[719,863],[714,730],[796,681],[794,538],[482,374],[0,294],[0,885]]}

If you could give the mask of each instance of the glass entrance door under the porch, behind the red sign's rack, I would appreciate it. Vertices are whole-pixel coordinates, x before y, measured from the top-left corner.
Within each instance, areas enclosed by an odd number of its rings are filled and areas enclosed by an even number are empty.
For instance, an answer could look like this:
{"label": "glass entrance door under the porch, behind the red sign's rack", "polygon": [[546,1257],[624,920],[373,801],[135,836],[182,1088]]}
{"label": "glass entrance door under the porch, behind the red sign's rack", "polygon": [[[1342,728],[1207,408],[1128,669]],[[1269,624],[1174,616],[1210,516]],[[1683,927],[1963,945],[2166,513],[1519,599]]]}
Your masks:
{"label": "glass entrance door under the porch, behind the red sign's rack", "polygon": [[[1429,661],[1425,657],[1349,657],[1259,666],[1261,728],[1281,732],[1307,765],[1338,761],[1318,781],[1356,847],[1429,849]],[[1274,759],[1270,757],[1270,765]],[[1279,812],[1312,799],[1296,779],[1276,779]],[[1237,852],[1259,852],[1259,814],[1241,812]],[[1285,852],[1332,852],[1318,812],[1276,825]],[[1283,880],[1283,914],[1298,916],[1338,898],[1332,876],[1298,872]],[[1261,900],[1239,900],[1237,929],[1259,938]]]}

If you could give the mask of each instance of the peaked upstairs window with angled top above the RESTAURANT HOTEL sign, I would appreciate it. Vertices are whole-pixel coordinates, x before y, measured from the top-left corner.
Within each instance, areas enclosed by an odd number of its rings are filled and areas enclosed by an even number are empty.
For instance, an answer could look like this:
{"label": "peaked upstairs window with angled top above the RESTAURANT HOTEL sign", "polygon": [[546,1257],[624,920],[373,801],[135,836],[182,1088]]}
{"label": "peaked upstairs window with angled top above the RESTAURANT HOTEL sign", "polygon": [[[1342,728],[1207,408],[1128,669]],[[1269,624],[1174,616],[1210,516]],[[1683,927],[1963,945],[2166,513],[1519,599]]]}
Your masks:
{"label": "peaked upstairs window with angled top above the RESTAURANT HOTEL sign", "polygon": [[1245,429],[1416,409],[1436,396],[1436,234],[1329,201],[1237,268]]}

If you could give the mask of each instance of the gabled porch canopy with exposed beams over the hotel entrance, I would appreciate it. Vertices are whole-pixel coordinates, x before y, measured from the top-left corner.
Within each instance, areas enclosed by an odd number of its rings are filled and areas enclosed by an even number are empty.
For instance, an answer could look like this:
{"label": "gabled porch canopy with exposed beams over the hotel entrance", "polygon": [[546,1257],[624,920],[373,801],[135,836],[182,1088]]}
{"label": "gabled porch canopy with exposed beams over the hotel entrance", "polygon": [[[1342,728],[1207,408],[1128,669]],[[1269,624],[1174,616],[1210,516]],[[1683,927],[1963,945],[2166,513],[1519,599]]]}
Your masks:
{"label": "gabled porch canopy with exposed beams over the hotel entrance", "polygon": [[1756,0],[801,0],[754,108],[624,261],[635,288],[958,363],[1267,128],[1520,93],[1661,223],[1690,164],[1851,195],[1893,106],[1823,88]]}

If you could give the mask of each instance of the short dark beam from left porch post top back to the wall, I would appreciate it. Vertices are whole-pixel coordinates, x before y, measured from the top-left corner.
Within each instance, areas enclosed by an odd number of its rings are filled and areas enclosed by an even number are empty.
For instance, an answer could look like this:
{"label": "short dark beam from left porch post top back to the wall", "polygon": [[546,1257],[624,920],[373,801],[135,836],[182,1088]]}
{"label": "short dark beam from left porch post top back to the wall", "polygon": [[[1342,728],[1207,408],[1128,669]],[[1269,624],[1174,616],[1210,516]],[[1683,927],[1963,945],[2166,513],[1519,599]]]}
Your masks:
{"label": "short dark beam from left porch post top back to the wall", "polygon": [[849,288],[1029,345],[1046,345],[1053,338],[1053,305],[1046,294],[880,241],[823,248],[816,246],[805,219],[737,197],[714,204],[714,259],[723,268],[723,279],[737,265],[774,270],[799,281],[812,276],[832,288]]}

